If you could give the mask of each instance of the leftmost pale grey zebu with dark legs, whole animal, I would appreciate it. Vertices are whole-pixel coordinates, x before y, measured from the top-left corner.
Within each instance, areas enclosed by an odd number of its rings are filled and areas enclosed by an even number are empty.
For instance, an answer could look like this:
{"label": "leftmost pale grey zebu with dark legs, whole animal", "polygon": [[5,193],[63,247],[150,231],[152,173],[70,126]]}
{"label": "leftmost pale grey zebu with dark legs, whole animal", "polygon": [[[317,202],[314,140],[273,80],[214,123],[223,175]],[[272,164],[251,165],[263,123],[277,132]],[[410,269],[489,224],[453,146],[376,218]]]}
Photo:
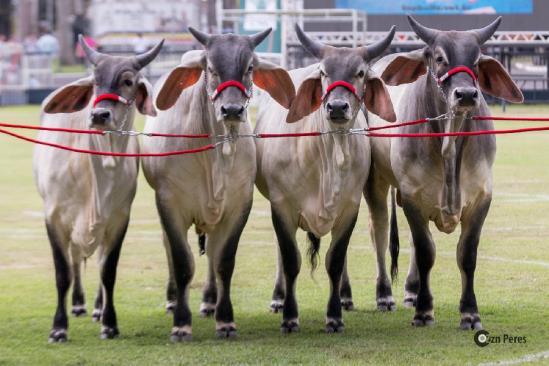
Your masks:
{"label": "leftmost pale grey zebu with dark legs, whole animal", "polygon": [[[41,125],[73,129],[131,130],[135,109],[155,115],[152,86],[140,70],[160,52],[164,41],[148,52],[110,56],[79,38],[93,75],[65,85],[42,103]],[[107,152],[138,152],[135,137],[116,134],[55,134],[41,131],[46,142]],[[73,282],[72,313],[86,313],[81,283],[82,261],[99,248],[100,286],[94,320],[101,320],[101,338],[119,334],[113,291],[120,248],[135,196],[137,158],[75,154],[37,145],[33,170],[44,201],[45,221],[55,265],[57,310],[50,342],[67,341],[65,298]]]}

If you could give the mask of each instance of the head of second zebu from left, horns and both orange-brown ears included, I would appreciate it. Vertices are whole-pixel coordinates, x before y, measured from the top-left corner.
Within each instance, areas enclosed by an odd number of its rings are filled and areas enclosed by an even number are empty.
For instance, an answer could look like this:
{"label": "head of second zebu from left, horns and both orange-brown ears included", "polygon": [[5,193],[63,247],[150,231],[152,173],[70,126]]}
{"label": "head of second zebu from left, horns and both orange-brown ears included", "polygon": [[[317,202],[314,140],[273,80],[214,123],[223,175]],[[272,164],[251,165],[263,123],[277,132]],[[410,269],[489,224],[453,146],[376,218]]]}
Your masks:
{"label": "head of second zebu from left, horns and both orange-brown ears included", "polygon": [[205,75],[206,92],[213,103],[216,119],[233,124],[247,120],[252,83],[266,90],[283,107],[289,108],[295,89],[288,73],[281,67],[261,60],[254,49],[271,29],[251,36],[235,34],[209,35],[189,27],[203,51],[183,55],[181,64],[170,72],[162,85],[156,105],[166,110],[174,105],[183,89]]}

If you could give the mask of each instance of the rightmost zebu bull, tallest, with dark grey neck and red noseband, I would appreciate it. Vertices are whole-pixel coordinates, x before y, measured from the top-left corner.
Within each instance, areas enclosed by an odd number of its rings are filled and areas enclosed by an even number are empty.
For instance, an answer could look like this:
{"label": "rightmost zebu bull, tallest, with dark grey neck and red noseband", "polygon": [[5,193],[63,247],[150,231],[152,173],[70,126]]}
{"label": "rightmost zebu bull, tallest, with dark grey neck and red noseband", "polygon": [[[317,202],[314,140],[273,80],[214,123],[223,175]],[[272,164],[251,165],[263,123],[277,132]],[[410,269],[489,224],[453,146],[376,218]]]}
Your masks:
{"label": "rightmost zebu bull, tallest, with dark grey neck and red noseband", "polygon": [[[400,127],[391,132],[430,133],[492,130],[492,121],[473,121],[490,114],[481,91],[510,102],[522,102],[521,91],[503,66],[483,55],[481,46],[494,34],[501,18],[483,29],[439,31],[409,17],[412,29],[427,44],[409,53],[386,56],[374,65],[390,85],[399,121],[444,118]],[[397,86],[400,84],[407,84]],[[370,126],[387,122],[369,114]],[[415,305],[413,325],[434,322],[429,272],[435,245],[429,221],[452,233],[461,223],[457,262],[461,272],[461,328],[482,324],[473,287],[481,229],[492,199],[493,135],[442,138],[374,138],[372,169],[365,196],[371,213],[371,233],[378,256],[378,287],[391,291],[385,270],[387,193],[398,189],[412,231],[412,258],[405,284],[405,305]],[[396,249],[396,248],[394,248]],[[398,253],[391,250],[392,254]],[[396,263],[396,258],[393,258]],[[381,282],[380,282],[381,280]],[[384,283],[383,283],[384,282]]]}

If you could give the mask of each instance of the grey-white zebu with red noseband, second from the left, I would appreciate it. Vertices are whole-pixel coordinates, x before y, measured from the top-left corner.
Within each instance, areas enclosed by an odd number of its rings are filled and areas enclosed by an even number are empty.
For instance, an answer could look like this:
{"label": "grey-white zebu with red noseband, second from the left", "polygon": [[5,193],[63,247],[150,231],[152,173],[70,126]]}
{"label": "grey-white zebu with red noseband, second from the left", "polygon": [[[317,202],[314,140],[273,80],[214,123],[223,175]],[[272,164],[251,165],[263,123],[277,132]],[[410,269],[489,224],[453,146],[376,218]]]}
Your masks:
{"label": "grey-white zebu with red noseband, second from the left", "polygon": [[[201,154],[143,159],[143,171],[156,193],[170,269],[173,342],[192,337],[188,293],[194,259],[187,231],[193,224],[200,241],[205,239],[209,267],[200,314],[215,312],[218,337],[236,335],[230,285],[256,175],[255,142],[249,137],[252,129],[247,118],[252,82],[284,108],[295,96],[287,72],[254,53],[271,29],[251,36],[189,31],[204,50],[183,54],[180,65],[159,80],[155,90],[160,112],[156,118],[147,118],[145,131],[209,134],[212,137],[206,141],[224,143]],[[204,141],[146,138],[143,149],[188,149]]]}

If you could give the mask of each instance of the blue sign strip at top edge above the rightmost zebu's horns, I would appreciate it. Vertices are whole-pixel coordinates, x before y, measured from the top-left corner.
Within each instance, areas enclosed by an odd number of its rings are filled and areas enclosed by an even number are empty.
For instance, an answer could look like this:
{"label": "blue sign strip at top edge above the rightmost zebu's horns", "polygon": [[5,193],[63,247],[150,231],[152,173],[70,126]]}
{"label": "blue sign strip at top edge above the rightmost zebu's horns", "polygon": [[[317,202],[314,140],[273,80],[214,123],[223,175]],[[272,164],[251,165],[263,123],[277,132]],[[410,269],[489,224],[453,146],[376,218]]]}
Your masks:
{"label": "blue sign strip at top edge above the rightmost zebu's horns", "polygon": [[368,14],[532,14],[533,0],[336,0]]}

